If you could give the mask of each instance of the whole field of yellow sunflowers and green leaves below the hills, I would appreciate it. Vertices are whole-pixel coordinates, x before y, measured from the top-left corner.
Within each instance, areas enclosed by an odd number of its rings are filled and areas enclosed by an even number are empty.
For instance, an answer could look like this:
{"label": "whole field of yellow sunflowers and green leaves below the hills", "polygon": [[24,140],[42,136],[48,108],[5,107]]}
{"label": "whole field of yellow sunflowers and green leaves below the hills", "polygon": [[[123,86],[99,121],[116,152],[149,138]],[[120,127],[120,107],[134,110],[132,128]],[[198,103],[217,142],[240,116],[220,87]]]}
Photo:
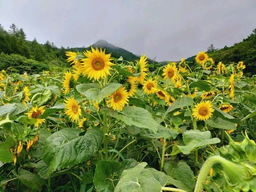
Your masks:
{"label": "whole field of yellow sunflowers and green leaves below the hills", "polygon": [[241,61],[0,72],[1,192],[256,192],[256,78]]}

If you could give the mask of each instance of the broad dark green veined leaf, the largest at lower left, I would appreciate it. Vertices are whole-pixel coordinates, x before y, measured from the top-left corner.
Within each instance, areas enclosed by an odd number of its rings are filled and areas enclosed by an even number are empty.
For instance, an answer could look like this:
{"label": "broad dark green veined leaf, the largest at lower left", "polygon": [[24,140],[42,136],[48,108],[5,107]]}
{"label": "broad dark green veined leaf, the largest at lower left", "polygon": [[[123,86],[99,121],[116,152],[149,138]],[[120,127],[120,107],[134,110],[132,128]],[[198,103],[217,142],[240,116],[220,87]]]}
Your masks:
{"label": "broad dark green veined leaf, the largest at lower left", "polygon": [[102,130],[94,128],[84,136],[80,136],[80,132],[80,129],[64,128],[47,138],[42,156],[49,166],[46,176],[83,162],[97,152],[103,139]]}

